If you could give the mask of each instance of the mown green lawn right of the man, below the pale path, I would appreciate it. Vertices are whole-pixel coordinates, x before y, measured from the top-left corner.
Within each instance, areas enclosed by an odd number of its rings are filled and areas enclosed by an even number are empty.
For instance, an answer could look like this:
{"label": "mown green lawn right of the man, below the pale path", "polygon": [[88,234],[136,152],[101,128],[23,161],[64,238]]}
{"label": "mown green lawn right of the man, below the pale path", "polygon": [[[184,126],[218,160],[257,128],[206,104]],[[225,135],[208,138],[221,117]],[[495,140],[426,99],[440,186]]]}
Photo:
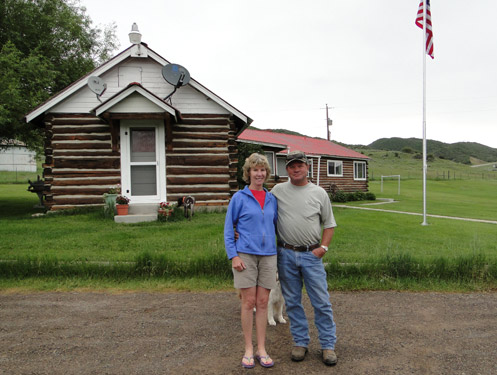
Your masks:
{"label": "mown green lawn right of the man, below the pale path", "polygon": [[497,260],[497,225],[335,208],[338,227],[332,248],[340,262],[407,253],[433,260],[483,254]]}

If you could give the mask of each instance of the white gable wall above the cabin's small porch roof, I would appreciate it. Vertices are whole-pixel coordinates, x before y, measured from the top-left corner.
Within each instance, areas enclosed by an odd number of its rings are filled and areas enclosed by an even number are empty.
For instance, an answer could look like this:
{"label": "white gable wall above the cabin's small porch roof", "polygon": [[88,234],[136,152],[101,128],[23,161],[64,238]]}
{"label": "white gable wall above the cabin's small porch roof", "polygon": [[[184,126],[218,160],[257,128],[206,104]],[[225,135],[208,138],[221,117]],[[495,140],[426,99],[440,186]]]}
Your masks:
{"label": "white gable wall above the cabin's small porch roof", "polygon": [[[149,58],[128,58],[100,77],[107,84],[107,90],[102,95],[101,100],[109,99],[123,90],[129,83],[136,82],[140,75],[141,82],[138,83],[162,99],[174,90],[174,87],[162,77],[162,66],[159,63]],[[129,80],[129,82],[126,82],[126,80]],[[171,97],[171,100],[173,107],[184,114],[229,114],[226,109],[189,85],[180,87]],[[96,95],[85,85],[73,95],[55,105],[49,112],[90,113],[99,104],[100,102]],[[126,112],[134,111],[130,109]],[[143,110],[140,112],[143,112]]]}

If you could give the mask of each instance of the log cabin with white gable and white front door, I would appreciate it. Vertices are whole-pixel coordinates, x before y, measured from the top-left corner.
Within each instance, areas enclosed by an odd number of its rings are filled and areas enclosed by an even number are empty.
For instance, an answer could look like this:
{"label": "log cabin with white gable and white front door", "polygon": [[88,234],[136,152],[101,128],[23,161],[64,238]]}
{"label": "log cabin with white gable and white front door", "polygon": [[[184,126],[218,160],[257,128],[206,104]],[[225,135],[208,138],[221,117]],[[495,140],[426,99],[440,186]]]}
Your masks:
{"label": "log cabin with white gable and white front door", "polygon": [[169,61],[133,43],[26,115],[45,130],[48,210],[102,205],[118,184],[130,206],[225,206],[238,189],[236,138],[252,120],[193,78],[171,85]]}

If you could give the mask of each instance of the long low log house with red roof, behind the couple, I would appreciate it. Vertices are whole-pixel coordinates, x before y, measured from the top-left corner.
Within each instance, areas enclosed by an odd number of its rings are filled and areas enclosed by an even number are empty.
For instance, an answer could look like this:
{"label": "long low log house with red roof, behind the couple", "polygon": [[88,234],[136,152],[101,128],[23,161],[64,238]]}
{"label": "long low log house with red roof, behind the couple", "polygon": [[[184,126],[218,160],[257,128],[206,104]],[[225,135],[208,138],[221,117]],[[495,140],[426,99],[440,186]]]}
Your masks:
{"label": "long low log house with red roof, behind the couple", "polygon": [[325,190],[368,191],[369,157],[326,139],[249,128],[237,140],[262,146],[273,171],[270,187],[287,180],[286,154],[299,150],[309,158],[309,179]]}

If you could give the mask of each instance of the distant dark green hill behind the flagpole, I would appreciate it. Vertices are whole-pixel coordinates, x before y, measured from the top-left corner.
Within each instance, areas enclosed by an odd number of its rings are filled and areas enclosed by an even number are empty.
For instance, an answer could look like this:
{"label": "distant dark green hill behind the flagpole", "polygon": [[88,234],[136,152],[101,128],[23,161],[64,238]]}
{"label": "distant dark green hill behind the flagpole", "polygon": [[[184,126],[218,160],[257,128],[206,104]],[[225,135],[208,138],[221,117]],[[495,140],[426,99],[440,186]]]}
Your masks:
{"label": "distant dark green hill behind the flagpole", "polygon": [[[368,145],[371,149],[388,151],[423,152],[423,140],[419,138],[380,138]],[[480,161],[497,161],[497,149],[475,142],[444,143],[426,141],[427,154],[458,163],[471,164],[471,158]]]}

